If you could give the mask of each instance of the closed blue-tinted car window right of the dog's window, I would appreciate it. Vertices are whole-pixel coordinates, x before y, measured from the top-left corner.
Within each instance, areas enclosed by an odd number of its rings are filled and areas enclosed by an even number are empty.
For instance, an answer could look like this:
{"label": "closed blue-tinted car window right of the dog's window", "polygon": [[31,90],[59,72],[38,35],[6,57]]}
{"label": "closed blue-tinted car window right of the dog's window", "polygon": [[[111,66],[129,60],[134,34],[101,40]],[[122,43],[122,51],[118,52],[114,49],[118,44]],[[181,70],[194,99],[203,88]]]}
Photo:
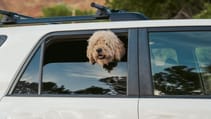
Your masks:
{"label": "closed blue-tinted car window right of the dog's window", "polygon": [[154,95],[210,94],[210,32],[151,32]]}

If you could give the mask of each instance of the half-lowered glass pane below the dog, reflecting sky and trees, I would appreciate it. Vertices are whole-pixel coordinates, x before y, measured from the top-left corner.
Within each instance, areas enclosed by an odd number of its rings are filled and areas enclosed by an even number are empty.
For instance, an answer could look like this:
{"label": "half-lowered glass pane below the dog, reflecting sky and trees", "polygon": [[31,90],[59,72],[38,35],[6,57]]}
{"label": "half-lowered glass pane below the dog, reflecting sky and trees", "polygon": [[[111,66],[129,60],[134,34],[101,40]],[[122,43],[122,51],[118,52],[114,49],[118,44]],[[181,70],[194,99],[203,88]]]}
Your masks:
{"label": "half-lowered glass pane below the dog, reflecting sky and trees", "polygon": [[126,63],[111,73],[88,62],[51,63],[44,66],[42,94],[126,94]]}

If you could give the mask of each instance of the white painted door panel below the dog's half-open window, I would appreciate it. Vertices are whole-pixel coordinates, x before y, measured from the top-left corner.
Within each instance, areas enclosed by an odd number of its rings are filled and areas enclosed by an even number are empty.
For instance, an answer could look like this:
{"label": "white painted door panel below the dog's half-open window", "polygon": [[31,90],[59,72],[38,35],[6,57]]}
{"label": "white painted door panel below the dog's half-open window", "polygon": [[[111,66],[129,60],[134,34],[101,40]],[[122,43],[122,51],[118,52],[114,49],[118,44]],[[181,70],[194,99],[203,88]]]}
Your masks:
{"label": "white painted door panel below the dog's half-open window", "polygon": [[138,119],[137,98],[4,97],[0,119]]}

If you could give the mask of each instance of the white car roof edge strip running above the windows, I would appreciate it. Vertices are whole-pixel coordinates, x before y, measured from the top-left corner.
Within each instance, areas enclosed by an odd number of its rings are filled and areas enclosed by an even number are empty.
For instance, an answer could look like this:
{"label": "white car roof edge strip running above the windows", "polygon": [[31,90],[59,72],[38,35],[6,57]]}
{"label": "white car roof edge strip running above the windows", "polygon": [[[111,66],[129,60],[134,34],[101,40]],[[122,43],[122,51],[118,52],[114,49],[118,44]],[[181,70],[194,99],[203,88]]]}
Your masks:
{"label": "white car roof edge strip running above the windows", "polygon": [[[92,29],[121,29],[121,28],[149,28],[149,27],[178,27],[178,26],[211,26],[209,19],[184,19],[184,20],[139,20],[139,21],[118,21],[118,22],[91,22],[91,23],[70,23],[70,24],[47,24],[47,25],[27,25],[10,26],[0,28],[0,33],[9,33],[13,30],[17,32],[45,31],[65,31],[65,30],[92,30]],[[23,30],[23,31],[22,31]]]}

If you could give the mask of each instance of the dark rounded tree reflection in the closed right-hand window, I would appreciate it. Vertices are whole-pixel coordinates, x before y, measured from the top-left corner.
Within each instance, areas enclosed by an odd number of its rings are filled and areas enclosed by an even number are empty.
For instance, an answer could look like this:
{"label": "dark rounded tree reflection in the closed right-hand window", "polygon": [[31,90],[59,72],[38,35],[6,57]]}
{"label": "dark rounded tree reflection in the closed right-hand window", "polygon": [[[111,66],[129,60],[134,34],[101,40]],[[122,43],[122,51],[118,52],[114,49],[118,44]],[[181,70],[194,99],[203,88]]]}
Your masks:
{"label": "dark rounded tree reflection in the closed right-hand window", "polygon": [[159,95],[194,95],[202,94],[199,73],[187,66],[172,66],[165,72],[155,73],[154,87]]}

